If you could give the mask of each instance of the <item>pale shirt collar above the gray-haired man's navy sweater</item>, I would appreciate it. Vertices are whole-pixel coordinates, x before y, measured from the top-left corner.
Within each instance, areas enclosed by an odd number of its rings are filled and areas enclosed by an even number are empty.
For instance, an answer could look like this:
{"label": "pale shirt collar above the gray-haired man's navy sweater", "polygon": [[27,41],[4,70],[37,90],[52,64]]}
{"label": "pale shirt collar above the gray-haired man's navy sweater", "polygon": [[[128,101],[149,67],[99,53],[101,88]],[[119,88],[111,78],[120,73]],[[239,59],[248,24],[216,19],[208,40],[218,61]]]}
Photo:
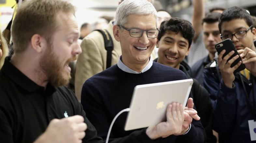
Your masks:
{"label": "pale shirt collar above the gray-haired man's navy sweater", "polygon": [[130,69],[128,66],[125,66],[123,64],[123,62],[121,61],[122,59],[122,55],[119,57],[118,59],[118,62],[117,62],[117,66],[124,72],[127,72],[127,73],[132,73],[132,74],[140,74],[140,73],[144,73],[145,71],[149,70],[149,68],[153,65],[153,60],[149,57],[149,63],[148,65],[142,69],[141,72],[136,72],[132,69]]}

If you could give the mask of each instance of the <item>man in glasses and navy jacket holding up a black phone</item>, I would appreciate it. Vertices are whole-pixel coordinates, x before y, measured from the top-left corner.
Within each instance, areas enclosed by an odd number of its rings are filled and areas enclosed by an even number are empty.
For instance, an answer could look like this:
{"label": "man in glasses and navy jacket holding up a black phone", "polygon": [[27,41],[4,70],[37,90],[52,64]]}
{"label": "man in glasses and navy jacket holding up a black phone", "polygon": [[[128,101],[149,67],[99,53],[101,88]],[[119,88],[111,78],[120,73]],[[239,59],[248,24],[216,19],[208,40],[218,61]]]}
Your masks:
{"label": "man in glasses and navy jacket holding up a black phone", "polygon": [[[232,40],[242,62],[231,68],[231,64],[239,56],[228,60],[234,54],[232,51],[222,59],[225,53],[223,50],[218,56],[218,61],[206,66],[205,87],[211,98],[216,98],[212,126],[219,133],[220,143],[256,142],[253,131],[256,127],[256,54],[253,44],[256,29],[252,26],[250,15],[245,9],[231,7],[221,14],[219,30],[222,40]],[[234,74],[241,63],[245,64],[246,69]]]}

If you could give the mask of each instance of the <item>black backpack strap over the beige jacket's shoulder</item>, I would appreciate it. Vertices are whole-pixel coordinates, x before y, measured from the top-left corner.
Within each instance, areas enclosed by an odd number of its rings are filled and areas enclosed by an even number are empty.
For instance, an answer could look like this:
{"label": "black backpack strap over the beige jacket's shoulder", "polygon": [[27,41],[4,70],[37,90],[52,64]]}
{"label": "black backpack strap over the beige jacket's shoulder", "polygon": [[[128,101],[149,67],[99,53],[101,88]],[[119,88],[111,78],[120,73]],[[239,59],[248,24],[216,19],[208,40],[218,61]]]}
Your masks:
{"label": "black backpack strap over the beige jacket's shoulder", "polygon": [[111,66],[112,51],[114,49],[112,38],[111,38],[109,32],[105,29],[94,30],[94,31],[99,31],[103,35],[105,49],[107,50],[107,66],[106,66],[106,68],[109,68]]}

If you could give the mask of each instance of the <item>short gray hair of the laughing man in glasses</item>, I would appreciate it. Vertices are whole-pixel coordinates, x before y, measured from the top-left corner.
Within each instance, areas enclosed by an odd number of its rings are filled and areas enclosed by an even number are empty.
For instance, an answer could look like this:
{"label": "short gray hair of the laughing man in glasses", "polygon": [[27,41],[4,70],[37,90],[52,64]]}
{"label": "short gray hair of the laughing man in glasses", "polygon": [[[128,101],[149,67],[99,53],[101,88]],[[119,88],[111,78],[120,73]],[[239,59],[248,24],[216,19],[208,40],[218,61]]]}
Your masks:
{"label": "short gray hair of the laughing man in glasses", "polygon": [[147,0],[124,0],[116,10],[116,25],[124,25],[127,17],[131,14],[150,15],[153,14],[157,26],[157,12],[155,7]]}

